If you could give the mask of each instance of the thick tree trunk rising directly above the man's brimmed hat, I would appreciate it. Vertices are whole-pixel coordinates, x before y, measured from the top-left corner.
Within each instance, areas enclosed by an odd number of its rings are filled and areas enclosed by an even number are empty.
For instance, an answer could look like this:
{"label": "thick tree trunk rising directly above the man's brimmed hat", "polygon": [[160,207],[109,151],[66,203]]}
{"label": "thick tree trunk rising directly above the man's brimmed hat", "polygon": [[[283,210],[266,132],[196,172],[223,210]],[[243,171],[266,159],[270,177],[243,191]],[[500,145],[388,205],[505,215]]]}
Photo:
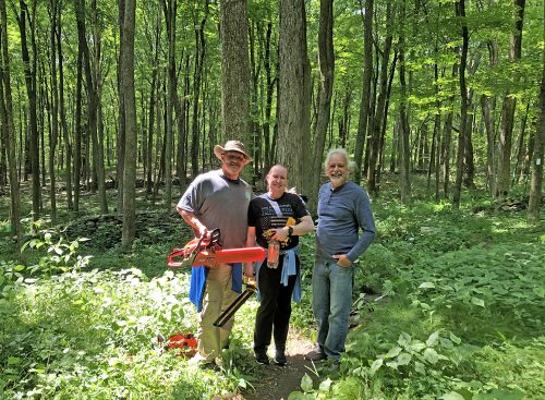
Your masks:
{"label": "thick tree trunk rising directly above the man's brimmed hat", "polygon": [[[246,0],[221,0],[222,140],[252,143],[250,135],[250,59]],[[253,153],[253,149],[250,151]],[[250,173],[246,169],[245,174]]]}

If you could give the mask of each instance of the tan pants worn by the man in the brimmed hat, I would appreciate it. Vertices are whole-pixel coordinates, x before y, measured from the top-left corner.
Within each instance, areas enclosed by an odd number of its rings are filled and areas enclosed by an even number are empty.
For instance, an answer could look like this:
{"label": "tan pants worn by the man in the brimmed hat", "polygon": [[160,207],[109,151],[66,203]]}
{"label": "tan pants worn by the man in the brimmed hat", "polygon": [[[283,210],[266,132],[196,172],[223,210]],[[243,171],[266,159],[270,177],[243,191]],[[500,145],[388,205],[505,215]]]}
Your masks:
{"label": "tan pants worn by the man in the brimmed hat", "polygon": [[206,278],[206,290],[203,299],[203,310],[198,315],[198,354],[206,361],[214,361],[221,354],[221,348],[227,344],[233,327],[234,317],[221,328],[213,324],[239,293],[231,290],[232,268],[228,264],[219,264],[210,268]]}

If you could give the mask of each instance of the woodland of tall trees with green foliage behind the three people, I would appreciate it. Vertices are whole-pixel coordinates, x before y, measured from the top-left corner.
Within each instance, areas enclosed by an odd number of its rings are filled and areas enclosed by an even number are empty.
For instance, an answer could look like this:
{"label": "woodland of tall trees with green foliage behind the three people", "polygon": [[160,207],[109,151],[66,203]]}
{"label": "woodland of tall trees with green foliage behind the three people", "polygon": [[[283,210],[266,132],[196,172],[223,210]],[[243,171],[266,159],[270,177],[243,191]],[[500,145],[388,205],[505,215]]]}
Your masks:
{"label": "woodland of tall trees with green foliage behind the three people", "polygon": [[251,149],[246,179],[261,184],[281,162],[311,210],[324,153],[343,146],[372,194],[385,172],[400,173],[403,203],[423,173],[455,207],[468,187],[505,198],[531,181],[538,219],[543,1],[2,0],[0,10],[0,187],[19,238],[29,211],[19,184],[29,182],[35,221],[45,208],[53,226],[59,208],[76,216],[82,191],[97,192],[101,214],[123,216],[130,247],[136,183],[170,209],[230,138]]}

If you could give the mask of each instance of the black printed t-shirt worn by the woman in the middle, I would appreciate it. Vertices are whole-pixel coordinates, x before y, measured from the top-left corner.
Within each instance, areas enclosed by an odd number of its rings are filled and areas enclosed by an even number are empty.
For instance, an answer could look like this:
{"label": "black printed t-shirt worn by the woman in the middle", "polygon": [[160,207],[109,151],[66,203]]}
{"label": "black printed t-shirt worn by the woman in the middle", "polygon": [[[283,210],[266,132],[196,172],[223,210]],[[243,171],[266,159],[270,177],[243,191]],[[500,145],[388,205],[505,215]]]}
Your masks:
{"label": "black printed t-shirt worn by the woman in the middle", "polygon": [[[264,198],[266,197],[266,198]],[[281,217],[278,216],[276,210],[272,208],[270,203],[267,201],[278,203],[278,207],[282,214]],[[247,209],[247,225],[250,227],[255,227],[255,238],[257,244],[262,247],[267,247],[267,239],[264,232],[271,228],[282,228],[286,227],[288,218],[294,218],[298,223],[300,219],[308,215],[305,205],[301,197],[293,193],[284,193],[280,198],[271,199],[267,193],[255,197],[250,202],[250,207]],[[282,250],[293,249],[299,244],[299,237],[288,237],[286,243],[280,242],[280,247]]]}

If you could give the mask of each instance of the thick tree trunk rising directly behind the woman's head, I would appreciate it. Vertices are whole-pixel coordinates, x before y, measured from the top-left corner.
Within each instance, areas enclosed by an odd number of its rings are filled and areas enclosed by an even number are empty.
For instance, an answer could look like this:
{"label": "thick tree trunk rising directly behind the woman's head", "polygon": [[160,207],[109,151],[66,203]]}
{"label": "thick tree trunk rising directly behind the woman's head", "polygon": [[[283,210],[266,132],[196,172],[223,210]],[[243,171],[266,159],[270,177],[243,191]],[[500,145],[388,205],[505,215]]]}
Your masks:
{"label": "thick tree trunk rising directly behind the woman's head", "polygon": [[[304,0],[280,0],[278,162],[290,171],[300,193],[311,187],[311,65],[306,49]],[[316,201],[316,199],[313,199]]]}

